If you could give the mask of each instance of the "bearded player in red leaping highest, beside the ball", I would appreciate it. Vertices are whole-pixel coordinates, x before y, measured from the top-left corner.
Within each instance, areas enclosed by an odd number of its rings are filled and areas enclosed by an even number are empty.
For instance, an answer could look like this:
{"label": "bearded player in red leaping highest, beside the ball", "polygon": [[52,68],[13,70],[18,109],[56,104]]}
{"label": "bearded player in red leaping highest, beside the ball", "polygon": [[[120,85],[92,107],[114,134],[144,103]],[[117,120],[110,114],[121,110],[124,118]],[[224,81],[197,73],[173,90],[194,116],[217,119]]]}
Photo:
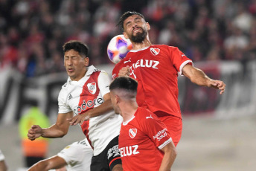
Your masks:
{"label": "bearded player in red leaping highest, beside the ball", "polygon": [[129,76],[138,81],[138,106],[155,113],[177,145],[182,135],[178,73],[199,86],[220,89],[220,94],[225,91],[225,83],[212,80],[202,70],[194,68],[191,59],[179,48],[152,45],[148,35],[150,24],[141,13],[124,13],[118,25],[124,30],[125,38],[132,42],[132,50],[115,65],[112,77]]}

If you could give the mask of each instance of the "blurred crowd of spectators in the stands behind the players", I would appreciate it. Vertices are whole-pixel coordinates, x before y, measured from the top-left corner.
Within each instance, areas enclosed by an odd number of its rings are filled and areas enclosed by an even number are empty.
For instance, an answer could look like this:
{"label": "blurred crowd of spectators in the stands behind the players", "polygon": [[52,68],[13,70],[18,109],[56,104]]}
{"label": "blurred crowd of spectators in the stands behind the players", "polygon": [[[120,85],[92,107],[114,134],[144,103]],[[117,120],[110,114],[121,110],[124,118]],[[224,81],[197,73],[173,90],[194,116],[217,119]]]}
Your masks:
{"label": "blurred crowd of spectators in the stands behind the players", "polygon": [[179,47],[194,62],[256,59],[256,0],[0,0],[0,69],[26,77],[65,71],[62,45],[89,45],[94,65],[121,34],[118,19],[142,13],[153,44]]}

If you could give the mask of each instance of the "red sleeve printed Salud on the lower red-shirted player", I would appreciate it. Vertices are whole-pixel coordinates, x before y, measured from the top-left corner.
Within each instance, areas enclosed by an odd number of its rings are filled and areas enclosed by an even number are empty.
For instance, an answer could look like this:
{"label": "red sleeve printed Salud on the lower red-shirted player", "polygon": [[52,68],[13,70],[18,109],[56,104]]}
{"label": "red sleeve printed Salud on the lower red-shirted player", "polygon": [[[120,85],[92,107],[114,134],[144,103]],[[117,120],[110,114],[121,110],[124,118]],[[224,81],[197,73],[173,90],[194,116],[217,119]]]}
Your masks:
{"label": "red sleeve printed Salud on the lower red-shirted player", "polygon": [[156,117],[156,114],[147,112],[143,115],[144,118],[141,118],[143,120],[143,131],[159,149],[162,149],[167,143],[172,141],[170,133],[167,131],[167,126]]}

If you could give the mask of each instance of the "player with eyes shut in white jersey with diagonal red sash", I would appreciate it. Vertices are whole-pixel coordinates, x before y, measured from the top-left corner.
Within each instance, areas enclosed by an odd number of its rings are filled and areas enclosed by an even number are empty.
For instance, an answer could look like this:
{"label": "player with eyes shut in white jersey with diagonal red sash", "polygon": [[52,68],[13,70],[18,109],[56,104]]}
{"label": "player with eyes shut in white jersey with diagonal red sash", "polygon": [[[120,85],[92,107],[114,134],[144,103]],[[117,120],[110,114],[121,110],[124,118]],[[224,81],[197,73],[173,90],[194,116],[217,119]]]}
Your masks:
{"label": "player with eyes shut in white jersey with diagonal red sash", "polygon": [[112,107],[109,76],[105,71],[89,66],[88,48],[83,43],[66,42],[63,51],[69,77],[59,94],[57,121],[44,129],[31,126],[28,138],[31,141],[40,136],[60,138],[68,133],[70,125],[80,123],[94,150],[91,170],[122,170],[118,151],[122,118]]}

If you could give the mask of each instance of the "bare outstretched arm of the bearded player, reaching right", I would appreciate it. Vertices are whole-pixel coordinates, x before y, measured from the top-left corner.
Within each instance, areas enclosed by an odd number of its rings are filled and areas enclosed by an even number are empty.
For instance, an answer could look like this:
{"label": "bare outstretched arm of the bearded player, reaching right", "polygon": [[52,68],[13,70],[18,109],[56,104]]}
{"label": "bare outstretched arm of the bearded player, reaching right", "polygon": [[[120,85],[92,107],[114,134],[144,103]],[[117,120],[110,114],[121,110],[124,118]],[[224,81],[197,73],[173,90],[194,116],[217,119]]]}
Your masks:
{"label": "bare outstretched arm of the bearded player, reaching right", "polygon": [[208,86],[215,89],[220,89],[220,94],[223,94],[225,91],[225,83],[223,83],[223,81],[212,80],[199,68],[195,68],[187,64],[182,68],[182,74],[184,74],[191,80],[192,83],[195,83],[198,86]]}

